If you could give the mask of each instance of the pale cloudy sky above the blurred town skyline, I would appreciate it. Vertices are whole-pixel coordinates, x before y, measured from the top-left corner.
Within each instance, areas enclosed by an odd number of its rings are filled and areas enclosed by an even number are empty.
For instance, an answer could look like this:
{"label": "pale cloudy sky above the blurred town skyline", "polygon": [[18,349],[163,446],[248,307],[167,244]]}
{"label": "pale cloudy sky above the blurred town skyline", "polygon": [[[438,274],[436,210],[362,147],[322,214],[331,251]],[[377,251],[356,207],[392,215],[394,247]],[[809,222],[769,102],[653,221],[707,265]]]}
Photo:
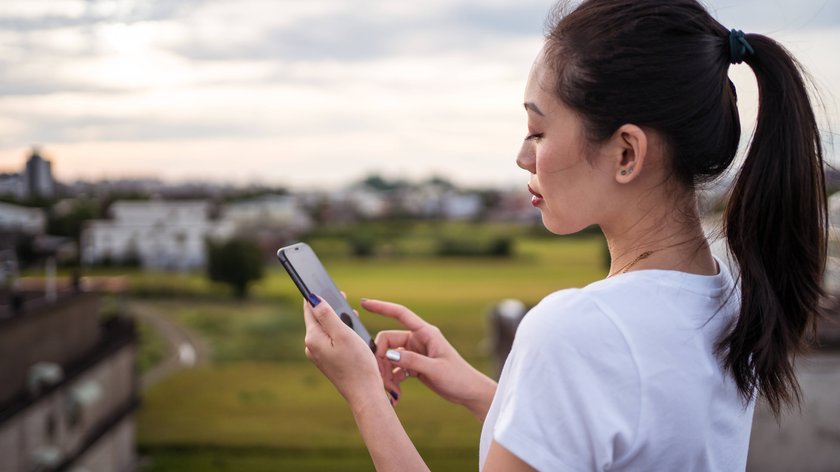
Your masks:
{"label": "pale cloudy sky above the blurred town skyline", "polygon": [[[0,172],[37,144],[63,181],[521,186],[522,94],[553,3],[0,0]],[[835,136],[840,1],[706,5],[793,51]],[[730,76],[748,130],[754,79]]]}

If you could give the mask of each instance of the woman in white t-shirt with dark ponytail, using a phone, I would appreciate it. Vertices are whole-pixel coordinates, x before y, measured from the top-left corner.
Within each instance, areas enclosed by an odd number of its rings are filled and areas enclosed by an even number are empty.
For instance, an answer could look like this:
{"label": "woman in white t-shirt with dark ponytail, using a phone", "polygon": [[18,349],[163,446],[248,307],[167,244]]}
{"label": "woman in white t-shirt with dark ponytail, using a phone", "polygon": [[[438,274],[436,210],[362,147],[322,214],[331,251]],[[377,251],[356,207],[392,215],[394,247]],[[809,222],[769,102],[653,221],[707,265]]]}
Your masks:
{"label": "woman in white t-shirt with dark ponytail, using a phone", "polygon": [[[697,186],[740,139],[730,64],[759,88],[725,216],[737,282],[709,250]],[[796,62],[695,0],[590,0],[555,22],[525,89],[517,164],[545,226],[597,224],[609,276],[524,318],[498,385],[399,305],[377,359],[326,303],[306,352],[350,404],[378,470],[425,470],[388,401],[417,376],[484,422],[481,470],[743,470],[753,408],[798,400],[792,357],[826,251],[822,151]],[[318,300],[316,300],[318,302]]]}

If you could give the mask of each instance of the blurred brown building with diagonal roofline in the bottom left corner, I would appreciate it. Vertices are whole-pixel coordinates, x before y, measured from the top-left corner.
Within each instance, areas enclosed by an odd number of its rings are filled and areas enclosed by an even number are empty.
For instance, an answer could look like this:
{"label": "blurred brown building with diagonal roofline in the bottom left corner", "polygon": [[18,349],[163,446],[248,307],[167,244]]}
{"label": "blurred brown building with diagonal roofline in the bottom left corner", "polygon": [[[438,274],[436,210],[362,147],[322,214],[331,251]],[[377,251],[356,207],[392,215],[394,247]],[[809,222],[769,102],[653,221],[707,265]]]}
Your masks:
{"label": "blurred brown building with diagonal roofline in the bottom left corner", "polygon": [[0,306],[0,470],[134,470],[134,324],[95,293],[26,298]]}

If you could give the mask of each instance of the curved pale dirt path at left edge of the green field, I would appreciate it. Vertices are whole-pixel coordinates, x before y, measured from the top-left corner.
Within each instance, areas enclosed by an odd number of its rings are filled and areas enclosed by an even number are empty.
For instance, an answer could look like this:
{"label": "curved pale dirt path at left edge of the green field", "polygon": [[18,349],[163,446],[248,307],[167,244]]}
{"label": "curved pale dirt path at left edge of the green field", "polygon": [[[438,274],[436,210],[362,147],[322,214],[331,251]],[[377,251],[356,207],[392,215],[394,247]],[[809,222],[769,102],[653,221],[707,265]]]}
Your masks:
{"label": "curved pale dirt path at left edge of the green field", "polygon": [[126,302],[126,307],[133,317],[152,325],[168,345],[166,359],[143,375],[141,379],[143,389],[159,382],[171,372],[207,362],[209,358],[207,347],[201,340],[157,308],[138,300]]}

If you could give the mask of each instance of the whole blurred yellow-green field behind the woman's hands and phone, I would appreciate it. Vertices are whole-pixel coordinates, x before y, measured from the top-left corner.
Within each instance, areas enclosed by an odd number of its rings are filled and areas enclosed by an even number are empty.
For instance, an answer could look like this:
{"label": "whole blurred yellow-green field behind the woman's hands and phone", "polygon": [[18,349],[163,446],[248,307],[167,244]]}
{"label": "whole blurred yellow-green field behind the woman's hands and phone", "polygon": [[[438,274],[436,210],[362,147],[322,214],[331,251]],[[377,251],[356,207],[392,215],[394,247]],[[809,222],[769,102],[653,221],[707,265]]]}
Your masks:
{"label": "whole blurred yellow-green field behind the woman's hands and phone", "polygon": [[[490,373],[488,307],[503,298],[536,303],[602,277],[602,244],[520,238],[512,258],[336,255],[324,263],[354,305],[360,297],[403,303]],[[136,420],[148,470],[372,469],[343,400],[303,356],[300,296],[285,273],[269,271],[247,302],[229,300],[198,275],[132,277],[132,287],[142,287],[136,294],[154,297],[145,301],[195,331],[212,359],[144,392]],[[178,287],[187,298],[177,295]],[[396,327],[361,316],[372,331]],[[419,383],[404,385],[397,409],[430,467],[476,469],[480,424]]]}

